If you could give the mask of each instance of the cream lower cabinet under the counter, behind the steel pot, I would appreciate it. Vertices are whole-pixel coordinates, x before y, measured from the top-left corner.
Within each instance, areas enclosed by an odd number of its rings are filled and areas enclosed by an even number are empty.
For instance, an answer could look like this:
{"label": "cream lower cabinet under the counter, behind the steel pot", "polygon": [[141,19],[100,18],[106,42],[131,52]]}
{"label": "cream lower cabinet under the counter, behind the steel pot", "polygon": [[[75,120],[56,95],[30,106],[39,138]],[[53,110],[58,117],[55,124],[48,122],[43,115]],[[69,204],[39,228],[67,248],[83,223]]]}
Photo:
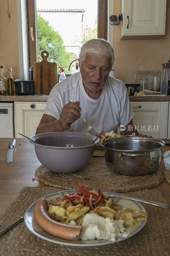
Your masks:
{"label": "cream lower cabinet under the counter, behind the steel pot", "polygon": [[153,138],[166,139],[169,102],[131,102],[135,113],[133,124],[138,132]]}

